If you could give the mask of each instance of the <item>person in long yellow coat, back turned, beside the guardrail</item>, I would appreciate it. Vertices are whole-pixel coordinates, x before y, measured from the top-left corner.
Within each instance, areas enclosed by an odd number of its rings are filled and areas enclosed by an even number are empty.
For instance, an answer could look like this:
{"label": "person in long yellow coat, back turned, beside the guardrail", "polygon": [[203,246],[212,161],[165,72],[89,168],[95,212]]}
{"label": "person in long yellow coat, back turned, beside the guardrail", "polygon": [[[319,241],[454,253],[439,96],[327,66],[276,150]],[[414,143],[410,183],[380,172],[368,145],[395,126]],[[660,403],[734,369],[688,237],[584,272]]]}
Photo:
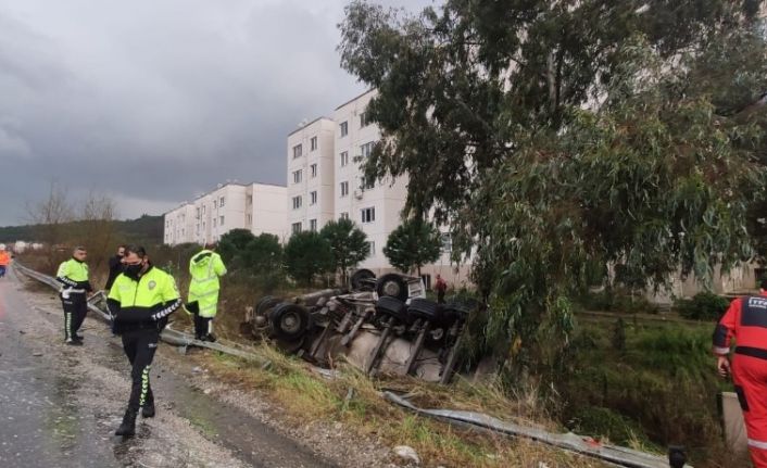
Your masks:
{"label": "person in long yellow coat, back turned, beside the guardrail", "polygon": [[194,337],[203,341],[216,341],[213,336],[213,318],[218,305],[218,277],[226,274],[221,255],[213,245],[193,255],[189,261],[189,298],[187,308],[194,315]]}

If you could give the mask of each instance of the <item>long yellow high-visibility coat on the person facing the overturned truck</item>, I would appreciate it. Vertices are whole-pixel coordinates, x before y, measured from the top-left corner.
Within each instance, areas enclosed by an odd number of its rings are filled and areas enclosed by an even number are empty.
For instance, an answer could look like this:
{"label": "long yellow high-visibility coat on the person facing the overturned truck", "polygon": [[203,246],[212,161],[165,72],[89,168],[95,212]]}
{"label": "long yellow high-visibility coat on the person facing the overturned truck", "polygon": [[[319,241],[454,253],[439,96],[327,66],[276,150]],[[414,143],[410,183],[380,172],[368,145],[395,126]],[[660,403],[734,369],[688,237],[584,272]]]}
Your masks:
{"label": "long yellow high-visibility coat on the person facing the overturned truck", "polygon": [[201,317],[215,317],[221,288],[218,277],[226,275],[221,255],[210,250],[201,251],[189,261],[189,274],[188,302],[197,301]]}

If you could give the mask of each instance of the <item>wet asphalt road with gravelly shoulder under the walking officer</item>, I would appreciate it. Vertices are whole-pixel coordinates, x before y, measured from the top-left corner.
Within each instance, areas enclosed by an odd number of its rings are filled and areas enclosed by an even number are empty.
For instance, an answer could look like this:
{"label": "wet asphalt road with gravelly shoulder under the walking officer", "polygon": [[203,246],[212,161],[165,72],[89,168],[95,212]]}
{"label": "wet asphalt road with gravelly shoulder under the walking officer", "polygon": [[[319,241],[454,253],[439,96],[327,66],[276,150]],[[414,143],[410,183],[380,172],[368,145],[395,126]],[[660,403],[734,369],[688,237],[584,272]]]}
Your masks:
{"label": "wet asphalt road with gravelly shoulder under the walking officer", "polygon": [[[46,301],[36,296],[46,294]],[[127,401],[120,340],[88,318],[63,344],[49,292],[0,279],[0,467],[330,467],[306,447],[153,366],[158,417],[113,435]]]}

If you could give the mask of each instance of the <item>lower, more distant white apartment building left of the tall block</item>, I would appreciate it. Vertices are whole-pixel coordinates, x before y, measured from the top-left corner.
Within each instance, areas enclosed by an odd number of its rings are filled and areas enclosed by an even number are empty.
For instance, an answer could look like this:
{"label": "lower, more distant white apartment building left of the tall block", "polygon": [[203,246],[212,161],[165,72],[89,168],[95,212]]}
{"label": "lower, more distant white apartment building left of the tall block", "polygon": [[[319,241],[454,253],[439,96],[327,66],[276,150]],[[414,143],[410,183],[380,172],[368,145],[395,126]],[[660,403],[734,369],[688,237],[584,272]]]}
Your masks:
{"label": "lower, more distant white apartment building left of the tall block", "polygon": [[217,242],[232,229],[285,237],[285,187],[227,182],[165,213],[164,242]]}

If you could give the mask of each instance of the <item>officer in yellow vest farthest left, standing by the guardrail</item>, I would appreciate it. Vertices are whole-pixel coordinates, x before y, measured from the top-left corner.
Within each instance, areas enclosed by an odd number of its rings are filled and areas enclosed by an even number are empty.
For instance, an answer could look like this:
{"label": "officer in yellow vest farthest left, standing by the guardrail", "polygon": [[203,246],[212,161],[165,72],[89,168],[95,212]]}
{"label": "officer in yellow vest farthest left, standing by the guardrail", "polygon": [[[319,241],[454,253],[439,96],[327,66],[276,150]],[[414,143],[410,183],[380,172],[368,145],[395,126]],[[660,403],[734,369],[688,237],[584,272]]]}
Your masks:
{"label": "officer in yellow vest farthest left, standing by the guardrail", "polygon": [[77,334],[77,330],[88,314],[86,294],[93,291],[88,280],[87,256],[84,246],[75,248],[72,258],[62,262],[56,273],[56,280],[62,283],[59,295],[64,306],[64,342],[70,345],[83,344],[83,337]]}

